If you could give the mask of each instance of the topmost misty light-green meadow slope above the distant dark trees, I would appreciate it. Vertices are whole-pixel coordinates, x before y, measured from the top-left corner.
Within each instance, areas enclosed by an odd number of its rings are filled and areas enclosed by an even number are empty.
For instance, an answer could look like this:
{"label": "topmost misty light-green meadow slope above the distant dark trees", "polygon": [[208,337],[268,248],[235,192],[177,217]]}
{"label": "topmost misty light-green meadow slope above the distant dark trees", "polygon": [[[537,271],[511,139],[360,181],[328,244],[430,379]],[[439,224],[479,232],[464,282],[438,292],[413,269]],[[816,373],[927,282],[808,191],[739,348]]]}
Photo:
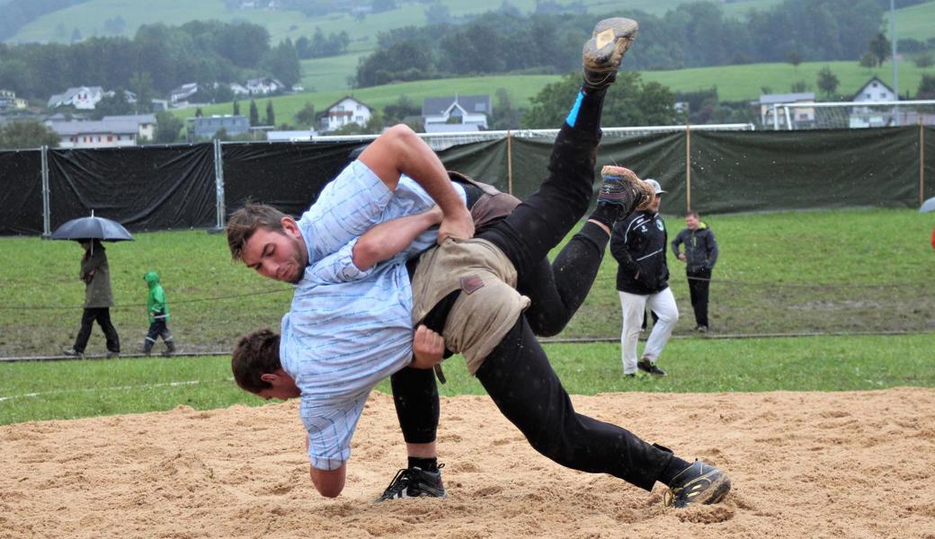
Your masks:
{"label": "topmost misty light-green meadow slope above the distant dark trees", "polygon": [[[558,4],[572,4],[573,0],[556,0]],[[607,13],[626,13],[640,9],[650,13],[662,14],[682,4],[684,0],[581,0],[589,12],[595,15]],[[751,7],[770,7],[779,0],[739,0],[724,5],[726,13],[739,15]],[[454,17],[479,14],[500,7],[502,0],[439,0],[449,7]],[[510,0],[510,4],[529,13],[535,6],[535,0]],[[8,42],[57,41],[67,42],[74,29],[81,35],[105,35],[104,21],[118,16],[126,22],[123,35],[134,35],[141,24],[165,22],[181,24],[186,21],[216,19],[219,21],[250,21],[262,24],[272,36],[273,43],[285,37],[294,40],[300,35],[311,35],[315,27],[321,27],[325,33],[346,31],[352,38],[351,50],[372,50],[376,36],[381,31],[403,26],[424,26],[425,5],[418,2],[397,2],[398,7],[391,11],[368,15],[364,20],[356,20],[348,13],[332,13],[317,18],[308,18],[297,11],[269,11],[266,9],[234,9],[224,7],[223,0],[91,0],[78,6],[68,7],[24,26]]]}

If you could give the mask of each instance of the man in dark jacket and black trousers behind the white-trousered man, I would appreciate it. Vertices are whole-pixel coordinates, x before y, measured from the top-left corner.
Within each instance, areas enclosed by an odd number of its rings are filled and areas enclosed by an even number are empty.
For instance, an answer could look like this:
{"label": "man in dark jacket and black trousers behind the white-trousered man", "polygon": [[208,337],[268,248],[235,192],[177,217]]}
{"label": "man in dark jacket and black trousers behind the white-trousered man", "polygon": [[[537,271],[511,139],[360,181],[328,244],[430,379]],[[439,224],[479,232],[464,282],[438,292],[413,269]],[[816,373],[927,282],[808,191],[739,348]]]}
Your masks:
{"label": "man in dark jacket and black trousers behind the white-trousered man", "polygon": [[[708,289],[711,286],[711,274],[717,262],[717,240],[708,225],[701,220],[698,212],[690,211],[685,215],[685,226],[672,240],[672,253],[685,262],[685,274],[688,277],[688,291],[695,310],[695,331],[708,332]],[[680,252],[679,246],[685,246]]]}

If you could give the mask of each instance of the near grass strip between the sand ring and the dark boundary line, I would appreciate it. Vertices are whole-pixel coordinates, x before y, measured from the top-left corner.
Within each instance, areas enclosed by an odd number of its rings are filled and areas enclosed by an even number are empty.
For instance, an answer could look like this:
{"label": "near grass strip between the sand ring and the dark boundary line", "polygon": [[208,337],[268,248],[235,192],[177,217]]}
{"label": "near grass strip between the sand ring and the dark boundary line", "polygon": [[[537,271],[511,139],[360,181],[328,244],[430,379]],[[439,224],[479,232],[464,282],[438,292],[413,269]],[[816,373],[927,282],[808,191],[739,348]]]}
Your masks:
{"label": "near grass strip between the sand ring and the dark boundary line", "polygon": [[[837,391],[935,387],[935,333],[777,339],[674,339],[669,376],[620,376],[616,344],[546,345],[569,393],[609,391]],[[445,363],[442,395],[483,394],[464,362]],[[390,392],[387,382],[377,390]],[[0,425],[132,414],[178,405],[198,410],[260,405],[237,388],[226,357],[0,363]]]}

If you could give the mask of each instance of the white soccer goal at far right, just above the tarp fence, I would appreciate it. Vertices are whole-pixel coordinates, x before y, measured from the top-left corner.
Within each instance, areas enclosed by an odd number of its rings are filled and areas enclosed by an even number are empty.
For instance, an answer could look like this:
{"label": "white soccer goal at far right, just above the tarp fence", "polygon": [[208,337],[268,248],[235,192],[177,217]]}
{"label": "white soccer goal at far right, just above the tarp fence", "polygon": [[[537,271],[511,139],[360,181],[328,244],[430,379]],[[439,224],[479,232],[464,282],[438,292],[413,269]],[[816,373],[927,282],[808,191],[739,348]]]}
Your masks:
{"label": "white soccer goal at far right, just above the tarp fence", "polygon": [[778,103],[764,120],[767,129],[789,131],[935,125],[935,100]]}

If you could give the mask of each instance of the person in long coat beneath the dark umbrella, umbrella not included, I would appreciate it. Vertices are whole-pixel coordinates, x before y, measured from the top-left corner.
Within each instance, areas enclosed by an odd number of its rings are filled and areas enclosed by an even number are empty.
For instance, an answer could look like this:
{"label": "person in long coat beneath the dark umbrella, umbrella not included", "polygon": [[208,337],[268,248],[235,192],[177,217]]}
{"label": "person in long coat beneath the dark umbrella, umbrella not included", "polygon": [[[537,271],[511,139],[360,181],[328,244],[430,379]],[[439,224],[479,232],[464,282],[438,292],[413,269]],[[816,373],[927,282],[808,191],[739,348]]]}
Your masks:
{"label": "person in long coat beneath the dark umbrella, umbrella not included", "polygon": [[75,337],[75,346],[64,351],[66,356],[84,355],[88,346],[94,320],[104,331],[107,338],[108,358],[120,355],[120,336],[110,322],[110,307],[114,305],[113,292],[110,291],[110,268],[108,255],[101,242],[94,239],[81,240],[84,256],[81,257],[79,277],[84,281],[84,314],[81,315],[81,327]]}

